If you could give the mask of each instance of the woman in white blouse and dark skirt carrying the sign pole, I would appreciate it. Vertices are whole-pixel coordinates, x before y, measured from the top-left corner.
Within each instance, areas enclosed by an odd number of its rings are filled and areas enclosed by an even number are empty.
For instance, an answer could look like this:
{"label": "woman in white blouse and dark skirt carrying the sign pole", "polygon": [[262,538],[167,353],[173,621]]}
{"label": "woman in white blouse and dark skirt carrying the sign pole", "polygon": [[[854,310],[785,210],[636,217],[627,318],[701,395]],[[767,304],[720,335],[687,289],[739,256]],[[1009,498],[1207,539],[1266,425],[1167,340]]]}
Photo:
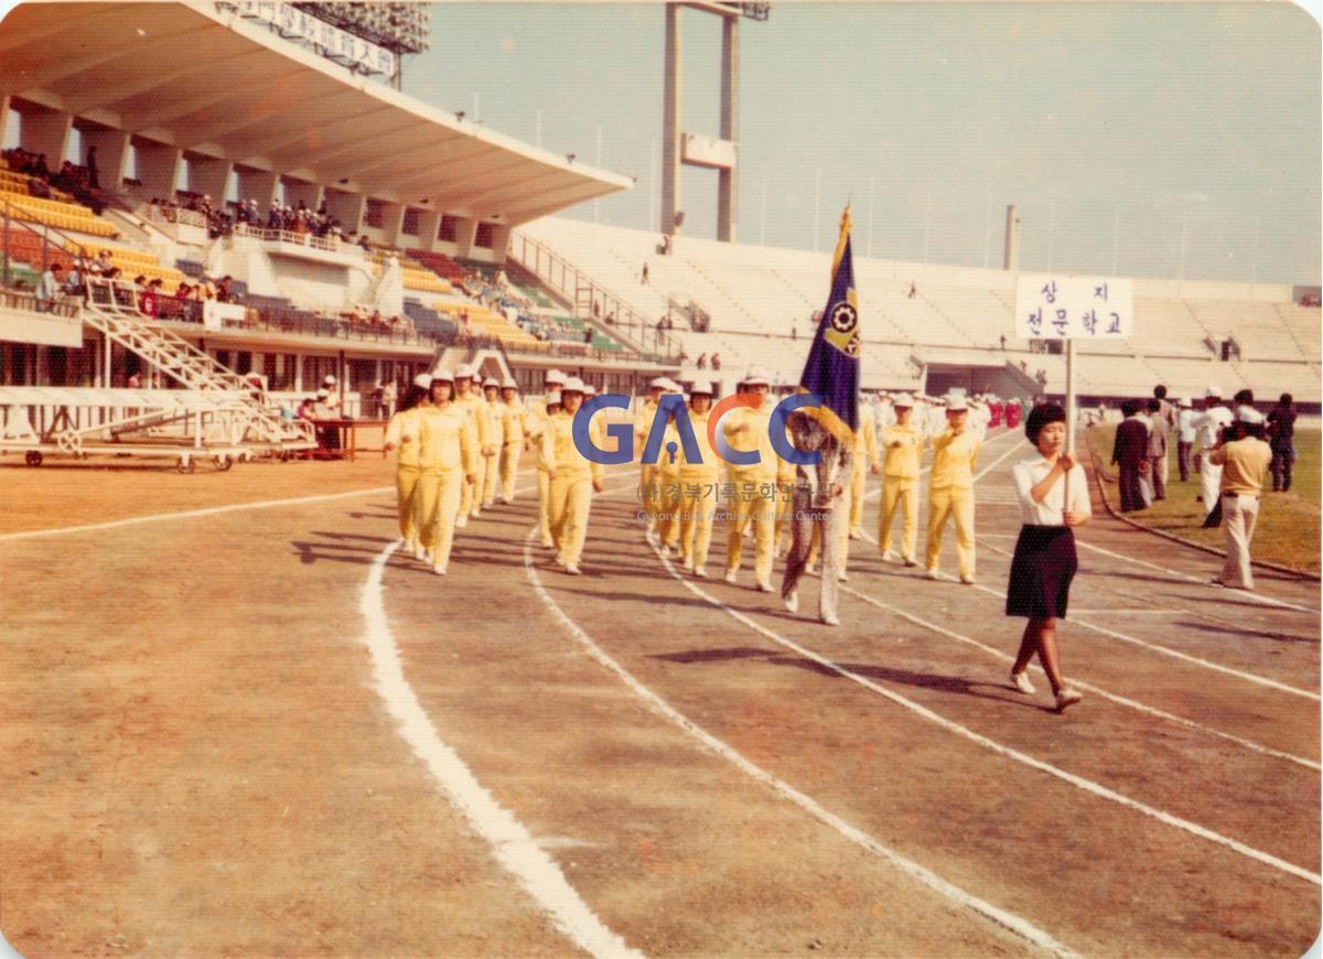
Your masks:
{"label": "woman in white blouse and dark skirt carrying the sign pole", "polygon": [[1027,616],[1029,622],[1011,667],[1011,683],[1021,693],[1033,693],[1025,669],[1037,653],[1061,712],[1082,697],[1061,679],[1056,620],[1066,615],[1077,566],[1070,530],[1088,522],[1093,511],[1084,467],[1065,451],[1065,410],[1054,403],[1036,406],[1024,422],[1024,433],[1039,447],[1039,455],[1016,463],[1013,470],[1024,525],[1011,561],[1005,615]]}

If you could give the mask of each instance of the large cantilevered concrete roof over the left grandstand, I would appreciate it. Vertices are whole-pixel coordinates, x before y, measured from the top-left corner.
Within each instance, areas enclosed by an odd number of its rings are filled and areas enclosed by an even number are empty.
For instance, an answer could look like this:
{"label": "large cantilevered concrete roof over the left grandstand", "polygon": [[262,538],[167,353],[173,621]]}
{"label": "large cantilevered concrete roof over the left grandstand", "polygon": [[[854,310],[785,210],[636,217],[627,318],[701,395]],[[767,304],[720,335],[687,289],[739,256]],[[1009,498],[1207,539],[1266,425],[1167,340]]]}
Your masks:
{"label": "large cantilevered concrete roof over the left grandstand", "polygon": [[632,187],[351,74],[213,4],[21,4],[0,91],[384,200],[519,224]]}

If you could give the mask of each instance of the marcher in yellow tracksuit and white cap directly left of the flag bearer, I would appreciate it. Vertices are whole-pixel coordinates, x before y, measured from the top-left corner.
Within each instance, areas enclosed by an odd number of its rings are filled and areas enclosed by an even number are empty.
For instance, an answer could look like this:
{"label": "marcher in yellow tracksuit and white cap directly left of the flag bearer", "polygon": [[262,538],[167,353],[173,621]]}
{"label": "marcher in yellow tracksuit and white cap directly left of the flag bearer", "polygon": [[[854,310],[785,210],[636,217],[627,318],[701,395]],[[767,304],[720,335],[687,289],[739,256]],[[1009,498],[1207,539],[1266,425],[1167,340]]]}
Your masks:
{"label": "marcher in yellow tracksuit and white cap directly left of the flag bearer", "polygon": [[745,376],[742,393],[753,399],[750,406],[733,409],[722,421],[725,439],[740,451],[758,451],[758,462],[749,466],[728,464],[729,481],[734,485],[730,500],[732,522],[726,533],[726,582],[740,575],[745,528],[754,533],[754,589],[771,593],[773,534],[777,526],[777,451],[767,427],[773,406],[767,402],[770,378],[766,373]]}

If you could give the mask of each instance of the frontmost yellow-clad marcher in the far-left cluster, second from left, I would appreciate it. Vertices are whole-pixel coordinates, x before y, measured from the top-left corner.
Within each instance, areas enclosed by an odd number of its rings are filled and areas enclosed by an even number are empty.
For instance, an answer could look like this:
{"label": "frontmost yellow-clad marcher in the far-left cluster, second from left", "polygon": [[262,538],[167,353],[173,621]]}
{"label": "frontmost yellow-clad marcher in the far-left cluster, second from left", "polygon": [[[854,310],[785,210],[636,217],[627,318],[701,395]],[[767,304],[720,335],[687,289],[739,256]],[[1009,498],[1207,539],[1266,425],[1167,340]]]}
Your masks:
{"label": "frontmost yellow-clad marcher in the far-left cluster, second from left", "polygon": [[431,405],[421,407],[415,421],[418,443],[418,499],[421,524],[433,541],[431,571],[446,575],[450,548],[455,541],[455,517],[464,481],[472,483],[476,468],[467,414],[451,402],[451,374],[439,370],[431,378]]}

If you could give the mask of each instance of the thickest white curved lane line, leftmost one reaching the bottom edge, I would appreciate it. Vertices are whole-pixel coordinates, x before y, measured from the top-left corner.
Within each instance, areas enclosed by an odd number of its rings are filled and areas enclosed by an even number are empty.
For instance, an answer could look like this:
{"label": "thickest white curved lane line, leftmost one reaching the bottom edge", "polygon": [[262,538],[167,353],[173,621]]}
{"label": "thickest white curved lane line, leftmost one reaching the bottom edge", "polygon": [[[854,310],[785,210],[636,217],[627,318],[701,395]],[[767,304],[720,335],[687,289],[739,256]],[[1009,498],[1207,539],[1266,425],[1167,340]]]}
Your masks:
{"label": "thickest white curved lane line, leftmost one reaching the bottom edge", "polygon": [[595,956],[642,955],[597,918],[524,824],[496,802],[437,734],[413,687],[405,679],[400,649],[386,622],[382,602],[386,561],[400,546],[401,541],[396,541],[373,560],[360,602],[366,627],[363,642],[372,653],[376,690],[386,712],[398,724],[400,734],[427,765],[437,784],[451,804],[463,812],[474,832],[492,847],[501,866],[546,911],[561,933]]}

